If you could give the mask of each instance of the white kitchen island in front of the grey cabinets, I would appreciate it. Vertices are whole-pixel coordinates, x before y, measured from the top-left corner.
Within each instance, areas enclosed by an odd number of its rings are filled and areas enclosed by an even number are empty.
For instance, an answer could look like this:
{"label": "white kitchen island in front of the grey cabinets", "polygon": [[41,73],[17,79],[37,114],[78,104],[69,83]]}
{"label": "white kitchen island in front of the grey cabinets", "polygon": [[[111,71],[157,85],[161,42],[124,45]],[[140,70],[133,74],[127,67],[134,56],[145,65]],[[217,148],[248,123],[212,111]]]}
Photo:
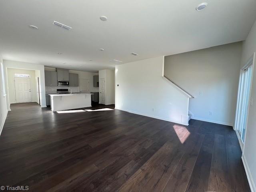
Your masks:
{"label": "white kitchen island in front of the grey cabinets", "polygon": [[91,93],[49,94],[51,110],[61,111],[91,107]]}

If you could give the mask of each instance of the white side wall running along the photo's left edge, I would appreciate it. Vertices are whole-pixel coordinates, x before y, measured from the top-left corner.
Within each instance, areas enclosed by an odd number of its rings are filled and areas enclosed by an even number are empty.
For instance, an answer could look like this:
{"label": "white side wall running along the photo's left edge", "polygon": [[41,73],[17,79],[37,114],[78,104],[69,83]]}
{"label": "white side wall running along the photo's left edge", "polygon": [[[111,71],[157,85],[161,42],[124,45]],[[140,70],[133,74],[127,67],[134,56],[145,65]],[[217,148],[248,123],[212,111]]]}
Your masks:
{"label": "white side wall running along the photo's left edge", "polygon": [[[3,63],[1,54],[0,54],[0,62]],[[7,104],[6,104],[6,94],[4,94],[4,82],[2,80],[2,69],[0,66],[0,134],[4,126],[7,112],[8,110],[7,110]]]}

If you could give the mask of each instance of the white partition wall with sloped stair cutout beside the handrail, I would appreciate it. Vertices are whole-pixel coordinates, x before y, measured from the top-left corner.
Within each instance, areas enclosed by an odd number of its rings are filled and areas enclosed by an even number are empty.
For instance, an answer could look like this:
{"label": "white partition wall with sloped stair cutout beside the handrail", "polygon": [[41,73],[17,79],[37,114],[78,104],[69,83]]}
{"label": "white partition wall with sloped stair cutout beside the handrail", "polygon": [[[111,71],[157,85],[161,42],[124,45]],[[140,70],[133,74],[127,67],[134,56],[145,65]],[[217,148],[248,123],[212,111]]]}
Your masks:
{"label": "white partition wall with sloped stair cutout beside the handrail", "polygon": [[162,78],[163,64],[161,56],[116,66],[116,109],[187,124],[188,98]]}

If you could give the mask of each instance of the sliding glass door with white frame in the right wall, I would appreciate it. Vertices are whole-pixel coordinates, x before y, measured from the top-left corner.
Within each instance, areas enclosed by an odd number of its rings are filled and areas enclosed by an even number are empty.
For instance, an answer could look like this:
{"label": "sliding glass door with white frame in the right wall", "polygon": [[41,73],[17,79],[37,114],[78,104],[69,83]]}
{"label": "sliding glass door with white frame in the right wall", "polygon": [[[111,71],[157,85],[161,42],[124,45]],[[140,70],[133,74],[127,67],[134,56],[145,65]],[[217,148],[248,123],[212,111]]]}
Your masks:
{"label": "sliding glass door with white frame in the right wall", "polygon": [[255,54],[253,54],[253,56],[248,60],[246,65],[240,71],[238,98],[236,106],[236,121],[234,127],[237,132],[241,148],[243,147],[245,142],[248,111],[250,104],[252,104],[252,100],[250,100],[250,89],[254,66],[254,55]]}

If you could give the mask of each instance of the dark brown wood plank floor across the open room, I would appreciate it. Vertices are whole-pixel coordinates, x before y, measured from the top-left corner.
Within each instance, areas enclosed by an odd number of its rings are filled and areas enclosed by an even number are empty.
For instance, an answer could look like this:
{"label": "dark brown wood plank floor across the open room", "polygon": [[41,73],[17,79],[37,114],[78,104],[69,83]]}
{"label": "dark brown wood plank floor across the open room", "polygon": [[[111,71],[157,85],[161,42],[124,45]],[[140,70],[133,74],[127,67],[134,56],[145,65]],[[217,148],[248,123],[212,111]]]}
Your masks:
{"label": "dark brown wood plank floor across the open room", "polygon": [[[106,107],[114,106],[92,110]],[[197,120],[182,126],[120,110],[59,114],[35,103],[12,104],[11,110],[0,136],[1,186],[250,191],[230,126]]]}

